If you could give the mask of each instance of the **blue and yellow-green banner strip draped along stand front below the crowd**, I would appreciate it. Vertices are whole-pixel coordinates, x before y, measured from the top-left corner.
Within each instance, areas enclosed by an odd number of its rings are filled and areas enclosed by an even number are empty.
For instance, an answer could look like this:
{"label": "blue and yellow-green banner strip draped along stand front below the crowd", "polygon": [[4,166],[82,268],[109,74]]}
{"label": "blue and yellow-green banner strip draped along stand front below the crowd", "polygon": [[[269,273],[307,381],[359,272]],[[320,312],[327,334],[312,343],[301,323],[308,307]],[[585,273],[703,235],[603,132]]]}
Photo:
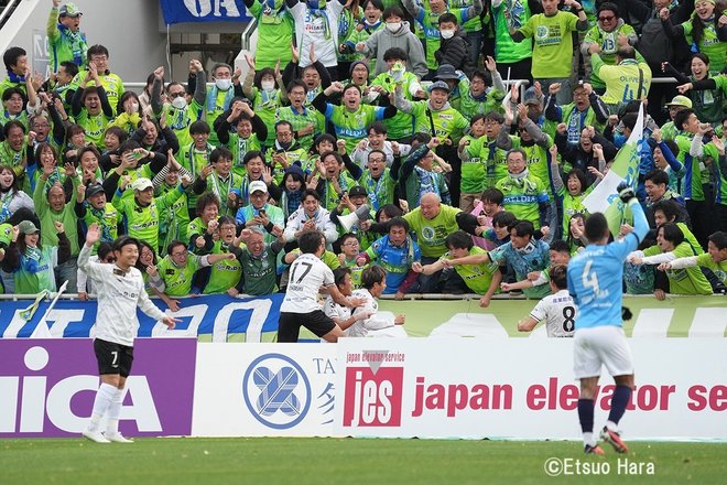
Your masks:
{"label": "blue and yellow-green banner strip draped along stand front below the crowd", "polygon": [[[65,297],[65,298],[64,298]],[[421,299],[411,301],[411,299]],[[181,299],[182,309],[173,313],[182,320],[174,331],[138,311],[139,337],[187,336],[200,342],[273,342],[278,330],[280,293],[258,298],[231,298],[227,294]],[[29,337],[44,322],[54,337],[89,337],[96,317],[96,301],[78,301],[63,295],[51,311],[50,302],[19,295],[0,295],[0,337]],[[163,305],[161,300],[155,300]],[[724,295],[669,297],[658,301],[651,295],[626,297],[633,319],[625,323],[633,337],[715,337],[727,330],[727,300]],[[518,321],[535,305],[533,300],[493,298],[489,306],[479,306],[478,295],[415,294],[406,300],[382,300],[379,309],[404,313],[402,330],[408,336],[466,337],[544,337],[541,325],[532,334],[517,331]],[[303,331],[304,340],[314,335]]]}

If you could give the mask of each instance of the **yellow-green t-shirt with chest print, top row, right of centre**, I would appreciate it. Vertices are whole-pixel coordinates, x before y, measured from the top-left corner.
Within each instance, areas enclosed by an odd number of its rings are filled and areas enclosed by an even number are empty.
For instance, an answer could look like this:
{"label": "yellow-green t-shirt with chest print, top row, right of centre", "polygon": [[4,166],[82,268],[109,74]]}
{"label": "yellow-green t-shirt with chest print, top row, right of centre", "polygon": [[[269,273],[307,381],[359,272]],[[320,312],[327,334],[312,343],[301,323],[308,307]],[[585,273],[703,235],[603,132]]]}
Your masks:
{"label": "yellow-green t-shirt with chest print, top row, right of centre", "polygon": [[[538,13],[524,26],[518,29],[528,37],[534,39],[532,75],[539,79],[569,77],[573,57],[573,36],[578,18],[569,12],[558,11],[545,17]],[[523,41],[527,42],[527,41]]]}

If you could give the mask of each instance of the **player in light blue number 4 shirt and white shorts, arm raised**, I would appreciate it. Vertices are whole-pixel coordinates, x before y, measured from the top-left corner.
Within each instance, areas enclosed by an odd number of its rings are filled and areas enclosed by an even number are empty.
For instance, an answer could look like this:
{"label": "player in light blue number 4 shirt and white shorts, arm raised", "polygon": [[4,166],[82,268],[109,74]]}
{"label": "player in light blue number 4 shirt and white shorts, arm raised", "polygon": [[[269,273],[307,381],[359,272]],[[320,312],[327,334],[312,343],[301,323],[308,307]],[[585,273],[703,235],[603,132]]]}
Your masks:
{"label": "player in light blue number 4 shirt and white shorts, arm raised", "polygon": [[609,244],[606,217],[595,213],[586,220],[590,245],[568,262],[568,292],[578,306],[574,338],[574,370],[576,379],[580,380],[578,418],[585,452],[595,454],[604,454],[593,433],[594,395],[601,366],[614,377],[616,389],[600,438],[618,453],[628,452],[618,433],[618,422],[633,389],[633,362],[621,320],[623,261],[649,231],[649,223],[633,190],[621,183],[618,192],[633,213],[633,231]]}

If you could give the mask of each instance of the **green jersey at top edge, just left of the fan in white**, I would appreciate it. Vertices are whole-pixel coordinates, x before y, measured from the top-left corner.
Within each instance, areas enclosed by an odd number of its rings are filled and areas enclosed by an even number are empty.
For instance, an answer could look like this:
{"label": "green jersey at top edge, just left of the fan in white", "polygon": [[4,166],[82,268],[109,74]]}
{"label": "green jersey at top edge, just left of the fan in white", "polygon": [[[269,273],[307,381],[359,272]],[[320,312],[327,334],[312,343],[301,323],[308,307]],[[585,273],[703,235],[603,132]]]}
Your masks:
{"label": "green jersey at top edge, just left of the fan in white", "polygon": [[254,56],[256,68],[285,66],[291,60],[293,40],[293,18],[283,0],[275,0],[271,9],[269,2],[254,0],[249,12],[258,21],[258,47]]}

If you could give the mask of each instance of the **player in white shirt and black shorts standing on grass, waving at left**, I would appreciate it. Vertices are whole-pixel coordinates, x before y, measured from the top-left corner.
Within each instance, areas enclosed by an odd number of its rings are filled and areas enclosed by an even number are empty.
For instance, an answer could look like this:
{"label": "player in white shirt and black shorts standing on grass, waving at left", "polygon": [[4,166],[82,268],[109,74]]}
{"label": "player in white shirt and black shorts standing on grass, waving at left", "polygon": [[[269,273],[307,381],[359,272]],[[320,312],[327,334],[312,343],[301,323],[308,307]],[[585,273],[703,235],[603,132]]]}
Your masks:
{"label": "player in white shirt and black shorts standing on grass, waving at left", "polygon": [[[134,268],[139,259],[139,241],[121,236],[113,241],[116,265],[90,262],[94,245],[101,230],[93,224],[86,234],[86,244],[78,255],[78,268],[94,279],[98,299],[94,351],[98,360],[101,386],[96,392],[90,422],[83,435],[97,443],[131,443],[119,432],[119,414],[123,386],[133,362],[133,337],[139,326],[137,306],[170,328],[178,320],[166,316],[151,302],[144,290],[141,272]],[[107,417],[106,431],[100,431],[101,418]]]}

